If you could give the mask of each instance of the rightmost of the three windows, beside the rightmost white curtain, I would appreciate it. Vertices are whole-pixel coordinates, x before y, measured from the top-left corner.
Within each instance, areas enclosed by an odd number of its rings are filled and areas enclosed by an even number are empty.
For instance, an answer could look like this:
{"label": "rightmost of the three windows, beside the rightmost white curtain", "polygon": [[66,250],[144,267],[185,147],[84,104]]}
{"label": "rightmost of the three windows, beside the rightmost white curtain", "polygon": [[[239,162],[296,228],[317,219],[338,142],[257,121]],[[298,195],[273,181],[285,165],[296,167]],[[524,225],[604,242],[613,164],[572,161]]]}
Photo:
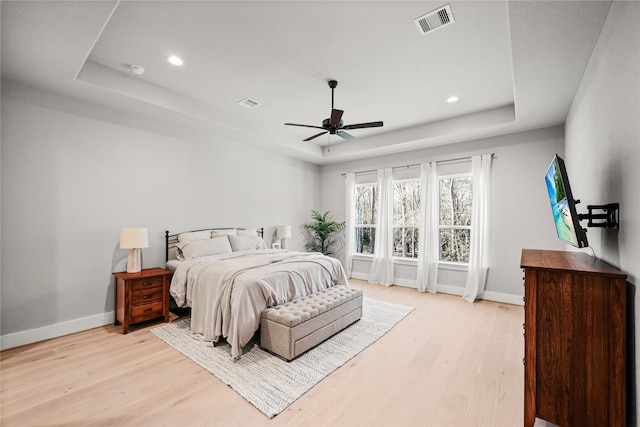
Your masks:
{"label": "rightmost of the three windows, beside the rightmost white curtain", "polygon": [[469,262],[471,236],[471,176],[439,178],[440,261]]}

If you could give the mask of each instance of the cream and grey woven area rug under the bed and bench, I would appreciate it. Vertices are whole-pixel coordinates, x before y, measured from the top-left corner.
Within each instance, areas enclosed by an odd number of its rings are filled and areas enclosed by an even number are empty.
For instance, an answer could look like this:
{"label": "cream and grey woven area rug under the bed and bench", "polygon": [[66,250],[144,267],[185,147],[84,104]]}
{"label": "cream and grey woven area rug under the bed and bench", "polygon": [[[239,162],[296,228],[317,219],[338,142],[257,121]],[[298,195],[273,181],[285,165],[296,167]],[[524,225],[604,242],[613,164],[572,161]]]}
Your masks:
{"label": "cream and grey woven area rug under the bed and bench", "polygon": [[191,336],[190,319],[151,332],[273,418],[340,366],[369,347],[413,307],[364,298],[362,318],[322,344],[286,362],[251,342],[233,361],[228,345],[213,347]]}

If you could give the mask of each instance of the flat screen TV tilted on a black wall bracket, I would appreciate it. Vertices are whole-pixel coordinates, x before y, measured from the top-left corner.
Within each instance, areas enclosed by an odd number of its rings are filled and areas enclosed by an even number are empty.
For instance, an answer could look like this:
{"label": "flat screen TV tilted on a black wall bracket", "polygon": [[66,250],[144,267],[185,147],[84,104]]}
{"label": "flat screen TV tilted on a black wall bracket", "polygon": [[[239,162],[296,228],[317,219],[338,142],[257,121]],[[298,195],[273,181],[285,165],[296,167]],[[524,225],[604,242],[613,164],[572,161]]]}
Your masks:
{"label": "flat screen TV tilted on a black wall bracket", "polygon": [[558,237],[575,247],[588,247],[587,231],[580,227],[564,160],[557,154],[547,170],[545,181]]}

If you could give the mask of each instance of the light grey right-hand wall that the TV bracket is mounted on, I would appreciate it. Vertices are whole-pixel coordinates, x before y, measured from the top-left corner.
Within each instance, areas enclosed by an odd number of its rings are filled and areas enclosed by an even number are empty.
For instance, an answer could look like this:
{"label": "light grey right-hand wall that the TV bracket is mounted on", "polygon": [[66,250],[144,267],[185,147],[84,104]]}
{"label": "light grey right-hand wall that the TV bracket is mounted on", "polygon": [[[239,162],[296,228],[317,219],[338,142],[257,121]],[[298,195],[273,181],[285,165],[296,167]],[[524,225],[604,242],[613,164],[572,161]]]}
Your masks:
{"label": "light grey right-hand wall that the TV bracket is mounted on", "polygon": [[[587,238],[596,256],[625,272],[633,284],[628,327],[635,329],[636,347],[640,342],[639,23],[640,3],[612,3],[567,118],[565,159],[574,197],[582,200],[583,210],[587,204],[620,203],[620,229],[589,228]],[[631,403],[637,421],[640,362],[634,340],[628,342],[635,351],[627,369],[635,372],[635,396],[629,398],[635,397]]]}

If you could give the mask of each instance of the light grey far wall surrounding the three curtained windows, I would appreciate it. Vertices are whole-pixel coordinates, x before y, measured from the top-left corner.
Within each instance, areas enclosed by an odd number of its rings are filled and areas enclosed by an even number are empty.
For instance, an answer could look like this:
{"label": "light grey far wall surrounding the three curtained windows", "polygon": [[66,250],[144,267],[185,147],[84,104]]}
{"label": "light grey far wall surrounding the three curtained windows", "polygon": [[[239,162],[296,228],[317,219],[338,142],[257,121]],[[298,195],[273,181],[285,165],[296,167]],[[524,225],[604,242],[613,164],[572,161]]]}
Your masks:
{"label": "light grey far wall surrounding the three curtained windows", "polygon": [[[323,166],[321,206],[344,220],[344,172],[446,160],[481,153],[495,153],[492,166],[493,213],[490,270],[485,298],[522,303],[520,252],[523,248],[560,249],[556,237],[544,175],[553,155],[563,154],[563,128],[524,133],[434,147],[391,156]],[[470,170],[470,162],[468,163]],[[374,178],[375,179],[375,178]],[[355,275],[366,275],[370,263],[357,261]],[[414,286],[415,268],[396,267],[395,284]],[[445,292],[462,294],[466,273],[441,268],[438,285]]]}

